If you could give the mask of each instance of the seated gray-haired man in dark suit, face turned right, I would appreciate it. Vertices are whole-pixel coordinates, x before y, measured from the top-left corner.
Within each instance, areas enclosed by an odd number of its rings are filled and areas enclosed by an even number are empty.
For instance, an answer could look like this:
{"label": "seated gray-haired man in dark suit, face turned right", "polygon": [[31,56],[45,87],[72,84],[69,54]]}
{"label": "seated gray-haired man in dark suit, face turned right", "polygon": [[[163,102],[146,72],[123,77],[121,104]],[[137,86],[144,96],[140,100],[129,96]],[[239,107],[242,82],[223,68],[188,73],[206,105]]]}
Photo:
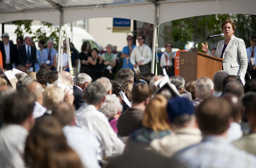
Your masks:
{"label": "seated gray-haired man in dark suit, face turned right", "polygon": [[92,78],[86,73],[79,73],[76,76],[76,84],[73,86],[74,88],[74,105],[76,106],[76,110],[84,103],[84,89],[92,83]]}

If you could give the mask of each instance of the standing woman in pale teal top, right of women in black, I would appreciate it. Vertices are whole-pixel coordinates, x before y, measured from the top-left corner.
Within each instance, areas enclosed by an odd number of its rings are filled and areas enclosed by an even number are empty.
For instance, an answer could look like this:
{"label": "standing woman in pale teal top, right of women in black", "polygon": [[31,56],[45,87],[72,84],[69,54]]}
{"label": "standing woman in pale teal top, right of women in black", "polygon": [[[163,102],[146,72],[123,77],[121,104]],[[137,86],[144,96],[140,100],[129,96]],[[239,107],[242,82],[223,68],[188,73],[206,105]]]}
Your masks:
{"label": "standing woman in pale teal top, right of women in black", "polygon": [[107,45],[107,52],[101,55],[101,60],[99,64],[103,61],[104,71],[101,73],[101,77],[107,77],[109,79],[114,78],[113,68],[116,66],[117,63],[117,55],[113,52],[113,46],[111,44]]}

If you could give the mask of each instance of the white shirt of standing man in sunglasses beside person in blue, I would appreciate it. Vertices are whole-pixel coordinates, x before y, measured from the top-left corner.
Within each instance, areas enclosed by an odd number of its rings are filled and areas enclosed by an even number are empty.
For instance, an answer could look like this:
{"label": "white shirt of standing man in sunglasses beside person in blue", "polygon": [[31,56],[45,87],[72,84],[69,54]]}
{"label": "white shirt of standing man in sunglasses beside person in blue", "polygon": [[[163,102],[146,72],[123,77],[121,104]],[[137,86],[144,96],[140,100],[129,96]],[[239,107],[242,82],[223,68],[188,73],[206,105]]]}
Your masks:
{"label": "white shirt of standing man in sunglasses beside person in blue", "polygon": [[142,65],[145,65],[151,62],[151,56],[152,52],[150,47],[143,44],[142,46],[134,47],[130,55],[130,62],[132,63],[132,65],[135,65],[136,62],[141,62]]}

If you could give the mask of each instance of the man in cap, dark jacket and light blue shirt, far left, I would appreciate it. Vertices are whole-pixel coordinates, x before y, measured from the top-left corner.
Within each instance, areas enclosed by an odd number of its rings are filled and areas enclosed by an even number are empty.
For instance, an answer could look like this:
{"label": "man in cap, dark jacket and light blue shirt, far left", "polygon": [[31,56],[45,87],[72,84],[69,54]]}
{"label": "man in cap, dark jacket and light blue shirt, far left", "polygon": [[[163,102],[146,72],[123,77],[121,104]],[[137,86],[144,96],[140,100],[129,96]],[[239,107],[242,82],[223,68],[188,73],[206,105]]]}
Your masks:
{"label": "man in cap, dark jacket and light blue shirt, far left", "polygon": [[12,69],[11,64],[18,60],[18,50],[16,45],[9,42],[8,33],[2,35],[2,41],[3,43],[0,43],[0,51],[2,52],[3,57],[3,68],[10,70]]}

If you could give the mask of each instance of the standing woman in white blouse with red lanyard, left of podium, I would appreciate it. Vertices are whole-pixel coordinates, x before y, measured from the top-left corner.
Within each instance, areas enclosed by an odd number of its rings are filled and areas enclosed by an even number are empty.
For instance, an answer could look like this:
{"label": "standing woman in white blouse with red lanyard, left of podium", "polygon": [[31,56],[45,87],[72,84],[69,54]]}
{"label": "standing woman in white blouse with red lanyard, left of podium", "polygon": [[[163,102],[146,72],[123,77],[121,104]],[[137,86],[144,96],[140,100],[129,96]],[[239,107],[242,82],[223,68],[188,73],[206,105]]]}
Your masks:
{"label": "standing woman in white blouse with red lanyard, left of podium", "polygon": [[175,75],[175,69],[174,69],[175,54],[172,52],[173,45],[169,41],[165,44],[164,47],[166,48],[166,50],[164,53],[162,53],[162,56],[160,59],[160,67],[166,70],[166,73],[169,77],[172,77]]}

